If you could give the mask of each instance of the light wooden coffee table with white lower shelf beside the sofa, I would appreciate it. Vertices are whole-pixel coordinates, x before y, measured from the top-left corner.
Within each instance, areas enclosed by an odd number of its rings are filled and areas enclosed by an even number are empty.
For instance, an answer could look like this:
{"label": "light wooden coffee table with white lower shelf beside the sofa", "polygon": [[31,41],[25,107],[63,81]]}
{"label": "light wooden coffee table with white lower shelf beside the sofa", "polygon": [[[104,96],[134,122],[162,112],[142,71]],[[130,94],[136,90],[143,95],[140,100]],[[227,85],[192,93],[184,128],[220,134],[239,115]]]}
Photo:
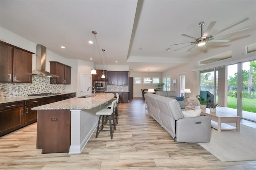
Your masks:
{"label": "light wooden coffee table with white lower shelf beside the sofa", "polygon": [[[186,110],[194,110],[194,109],[200,109],[200,106],[186,106]],[[212,127],[217,129],[218,132],[221,130],[236,130],[240,131],[240,117],[230,115],[229,113],[224,113],[221,111],[216,111],[216,113],[210,112],[210,109],[202,109],[201,116],[208,116],[211,118],[212,121]],[[228,125],[226,123],[236,123],[236,127],[233,127],[231,125]]]}

